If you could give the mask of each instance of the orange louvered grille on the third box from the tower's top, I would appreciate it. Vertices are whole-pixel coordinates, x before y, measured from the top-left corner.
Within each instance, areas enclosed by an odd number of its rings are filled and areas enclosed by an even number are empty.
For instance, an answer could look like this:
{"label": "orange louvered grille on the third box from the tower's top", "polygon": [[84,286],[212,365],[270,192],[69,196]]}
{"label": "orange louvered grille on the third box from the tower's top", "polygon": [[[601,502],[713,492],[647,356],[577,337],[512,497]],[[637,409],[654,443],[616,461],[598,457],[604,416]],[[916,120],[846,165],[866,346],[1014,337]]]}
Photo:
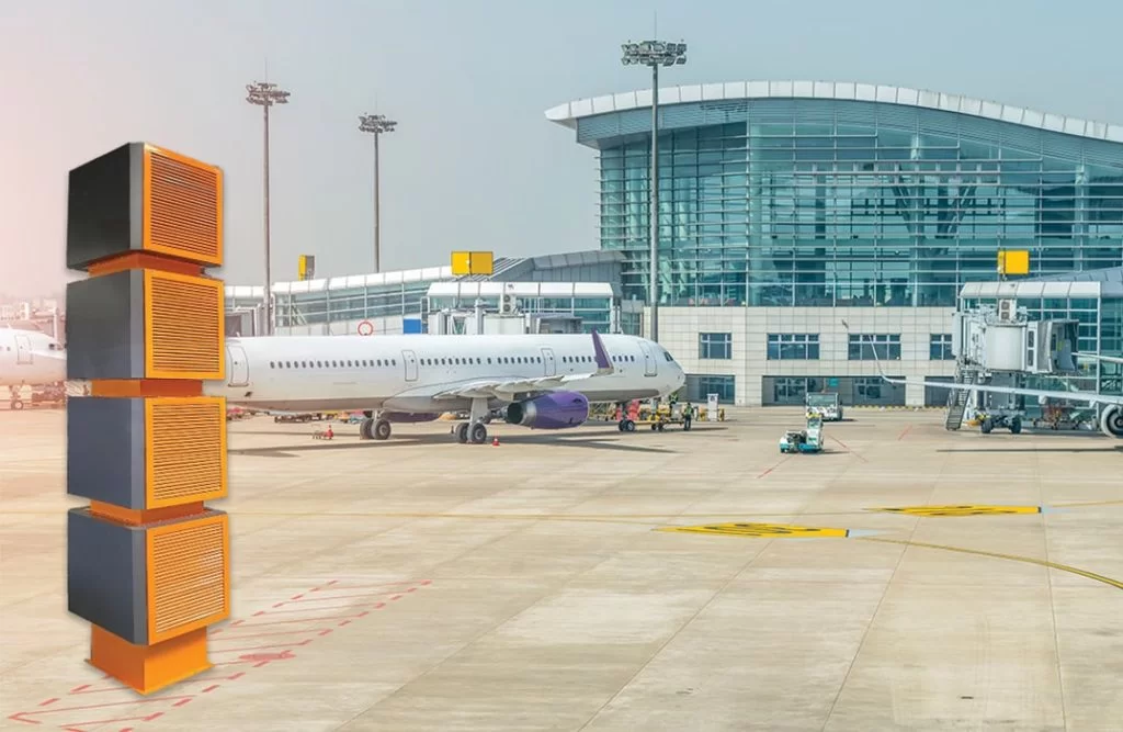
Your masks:
{"label": "orange louvered grille on the third box from the tower's top", "polygon": [[148,399],[148,501],[164,508],[226,495],[222,399]]}

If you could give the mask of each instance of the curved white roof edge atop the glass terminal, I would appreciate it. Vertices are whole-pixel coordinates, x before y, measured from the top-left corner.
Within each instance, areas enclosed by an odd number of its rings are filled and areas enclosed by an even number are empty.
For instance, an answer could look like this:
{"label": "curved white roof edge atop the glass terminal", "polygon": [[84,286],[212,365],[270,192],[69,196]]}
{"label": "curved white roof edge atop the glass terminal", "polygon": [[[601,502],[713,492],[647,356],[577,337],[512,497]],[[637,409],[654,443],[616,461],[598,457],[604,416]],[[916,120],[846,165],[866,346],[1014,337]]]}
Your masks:
{"label": "curved white roof edge atop the glass terminal", "polygon": [[[1108,125],[1066,117],[1065,115],[1034,111],[996,101],[906,87],[861,84],[847,81],[737,81],[659,89],[660,107],[700,101],[747,99],[830,99],[903,105],[995,119],[1092,139],[1123,143],[1123,125]],[[650,106],[650,89],[626,91],[619,94],[578,99],[558,105],[546,111],[546,118],[559,125],[576,128],[577,120],[583,117],[642,109]]]}

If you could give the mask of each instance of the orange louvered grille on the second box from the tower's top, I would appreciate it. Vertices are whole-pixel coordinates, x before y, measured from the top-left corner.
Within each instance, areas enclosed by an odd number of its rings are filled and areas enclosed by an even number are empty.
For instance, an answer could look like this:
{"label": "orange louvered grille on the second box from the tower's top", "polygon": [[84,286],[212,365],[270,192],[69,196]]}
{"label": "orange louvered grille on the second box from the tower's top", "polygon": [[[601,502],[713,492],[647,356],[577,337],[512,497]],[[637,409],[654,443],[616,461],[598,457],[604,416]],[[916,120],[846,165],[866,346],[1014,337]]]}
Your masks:
{"label": "orange louvered grille on the second box from the tower's top", "polygon": [[145,281],[149,378],[221,379],[222,283],[150,270]]}

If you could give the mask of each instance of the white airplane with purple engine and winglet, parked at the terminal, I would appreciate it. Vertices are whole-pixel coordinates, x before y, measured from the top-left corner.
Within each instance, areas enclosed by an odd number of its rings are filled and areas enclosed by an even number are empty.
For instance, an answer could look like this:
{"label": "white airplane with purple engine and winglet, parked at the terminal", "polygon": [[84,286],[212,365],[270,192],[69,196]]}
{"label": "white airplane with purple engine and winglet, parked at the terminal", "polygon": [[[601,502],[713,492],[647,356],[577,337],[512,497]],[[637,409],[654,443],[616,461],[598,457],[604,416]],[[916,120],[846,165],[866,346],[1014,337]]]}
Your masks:
{"label": "white airplane with purple engine and winglet, parked at the terminal", "polygon": [[[537,430],[576,427],[590,401],[664,397],[686,381],[663,346],[631,335],[340,335],[228,338],[227,379],[204,394],[266,410],[363,410],[359,432],[466,410],[460,443],[487,440],[491,414]],[[624,418],[618,425],[633,431]]]}

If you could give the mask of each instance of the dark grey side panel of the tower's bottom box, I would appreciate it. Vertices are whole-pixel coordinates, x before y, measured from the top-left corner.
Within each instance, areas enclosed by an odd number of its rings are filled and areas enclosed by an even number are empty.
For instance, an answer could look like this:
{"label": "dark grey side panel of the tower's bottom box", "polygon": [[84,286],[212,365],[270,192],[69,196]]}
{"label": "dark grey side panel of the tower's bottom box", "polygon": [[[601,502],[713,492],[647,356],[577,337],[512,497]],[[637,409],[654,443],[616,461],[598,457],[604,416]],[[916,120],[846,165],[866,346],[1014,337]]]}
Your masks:
{"label": "dark grey side panel of the tower's bottom box", "polygon": [[148,639],[144,531],[67,513],[67,608],[130,643]]}

